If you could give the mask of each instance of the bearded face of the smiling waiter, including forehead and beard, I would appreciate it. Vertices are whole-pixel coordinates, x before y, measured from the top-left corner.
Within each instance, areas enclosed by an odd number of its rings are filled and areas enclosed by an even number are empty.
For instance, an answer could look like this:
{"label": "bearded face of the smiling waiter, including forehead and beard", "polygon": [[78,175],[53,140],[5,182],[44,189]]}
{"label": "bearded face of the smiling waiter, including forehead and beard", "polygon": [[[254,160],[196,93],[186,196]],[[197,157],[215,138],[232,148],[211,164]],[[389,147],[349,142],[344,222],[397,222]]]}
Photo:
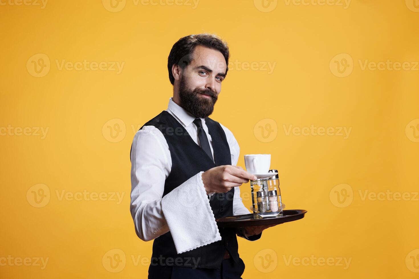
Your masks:
{"label": "bearded face of the smiling waiter, including forehead and beard", "polygon": [[197,46],[188,66],[182,69],[179,98],[182,107],[197,118],[212,114],[227,64],[220,51]]}

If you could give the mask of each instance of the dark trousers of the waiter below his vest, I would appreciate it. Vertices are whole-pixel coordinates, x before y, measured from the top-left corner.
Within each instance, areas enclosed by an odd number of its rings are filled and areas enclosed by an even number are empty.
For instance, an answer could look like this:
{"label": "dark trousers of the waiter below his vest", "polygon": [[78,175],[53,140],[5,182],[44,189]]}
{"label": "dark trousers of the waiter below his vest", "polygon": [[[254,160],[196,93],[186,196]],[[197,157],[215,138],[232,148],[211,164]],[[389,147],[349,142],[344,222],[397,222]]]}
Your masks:
{"label": "dark trousers of the waiter below his vest", "polygon": [[236,264],[233,258],[223,259],[221,270],[192,269],[179,266],[151,265],[148,268],[148,279],[241,279],[245,264],[241,258]]}

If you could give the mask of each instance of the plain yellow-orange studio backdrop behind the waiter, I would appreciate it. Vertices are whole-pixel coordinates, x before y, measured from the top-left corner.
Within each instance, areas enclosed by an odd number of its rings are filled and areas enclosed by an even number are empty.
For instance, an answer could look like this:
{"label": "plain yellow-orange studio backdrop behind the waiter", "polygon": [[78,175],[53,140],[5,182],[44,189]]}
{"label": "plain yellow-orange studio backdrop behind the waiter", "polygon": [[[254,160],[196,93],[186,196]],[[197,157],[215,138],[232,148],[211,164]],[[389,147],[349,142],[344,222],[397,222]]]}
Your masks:
{"label": "plain yellow-orange studio backdrop behind the waiter", "polygon": [[[151,256],[152,241],[137,238],[129,213],[129,150],[134,133],[172,96],[171,46],[203,32],[221,36],[230,63],[240,62],[230,67],[211,116],[237,138],[238,164],[244,167],[244,154],[272,154],[287,209],[308,210],[302,220],[265,230],[258,241],[238,239],[243,278],[417,278],[419,72],[362,69],[367,60],[419,61],[413,0],[352,0],[346,9],[343,1],[330,4],[337,0],[266,1],[269,8],[257,0],[200,0],[196,8],[186,0],[171,6],[127,0],[118,12],[100,0],[50,0],[44,8],[7,1],[0,6],[0,126],[49,130],[43,139],[0,136],[0,258],[49,261],[45,269],[1,265],[1,278],[146,277],[148,264],[133,261]],[[30,68],[36,54],[50,60],[43,77]],[[346,77],[333,69],[339,54],[352,58]],[[124,66],[119,74],[60,70],[56,61],[64,59]],[[253,69],[238,66],[244,62],[255,62]],[[276,63],[273,72],[263,70],[264,63]],[[111,142],[105,125],[112,119],[111,127],[125,125],[118,142]],[[259,128],[267,123],[276,133],[268,140]],[[290,125],[352,130],[346,139],[303,136],[287,134]],[[39,208],[30,190],[37,184],[50,190]],[[335,205],[332,191],[340,184],[352,189],[344,207]],[[124,196],[120,204],[59,199],[63,190]],[[249,190],[241,186],[246,207]],[[411,200],[362,199],[366,190],[408,192]],[[113,249],[126,257],[119,272],[106,266]],[[271,261],[262,266],[259,256]],[[287,265],[290,256],[351,262],[346,269],[318,261]]]}

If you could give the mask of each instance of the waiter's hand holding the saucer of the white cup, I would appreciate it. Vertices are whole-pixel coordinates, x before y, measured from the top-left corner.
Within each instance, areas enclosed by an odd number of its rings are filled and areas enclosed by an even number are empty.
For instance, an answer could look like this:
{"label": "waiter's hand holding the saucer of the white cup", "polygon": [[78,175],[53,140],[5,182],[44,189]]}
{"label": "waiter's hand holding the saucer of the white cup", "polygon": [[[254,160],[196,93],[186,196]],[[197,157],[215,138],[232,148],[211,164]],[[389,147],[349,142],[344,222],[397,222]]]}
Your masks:
{"label": "waiter's hand holding the saucer of the white cup", "polygon": [[226,193],[233,187],[249,182],[249,179],[256,180],[257,177],[243,170],[241,166],[216,166],[202,174],[207,195],[211,192]]}

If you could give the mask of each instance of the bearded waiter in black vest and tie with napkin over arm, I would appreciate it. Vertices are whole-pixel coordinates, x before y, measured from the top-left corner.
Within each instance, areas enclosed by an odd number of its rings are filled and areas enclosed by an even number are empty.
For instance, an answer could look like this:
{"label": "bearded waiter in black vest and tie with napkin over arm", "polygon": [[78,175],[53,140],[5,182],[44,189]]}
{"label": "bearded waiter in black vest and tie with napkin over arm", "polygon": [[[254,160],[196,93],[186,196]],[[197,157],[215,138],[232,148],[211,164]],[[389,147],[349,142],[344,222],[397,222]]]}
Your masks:
{"label": "bearded waiter in black vest and tie with napkin over arm", "polygon": [[138,237],[154,239],[148,278],[241,278],[236,235],[254,241],[269,227],[221,228],[215,222],[250,213],[239,186],[256,180],[235,166],[240,148],[233,133],[208,117],[229,56],[215,35],[179,39],[168,57],[168,108],[134,136],[130,209]]}

